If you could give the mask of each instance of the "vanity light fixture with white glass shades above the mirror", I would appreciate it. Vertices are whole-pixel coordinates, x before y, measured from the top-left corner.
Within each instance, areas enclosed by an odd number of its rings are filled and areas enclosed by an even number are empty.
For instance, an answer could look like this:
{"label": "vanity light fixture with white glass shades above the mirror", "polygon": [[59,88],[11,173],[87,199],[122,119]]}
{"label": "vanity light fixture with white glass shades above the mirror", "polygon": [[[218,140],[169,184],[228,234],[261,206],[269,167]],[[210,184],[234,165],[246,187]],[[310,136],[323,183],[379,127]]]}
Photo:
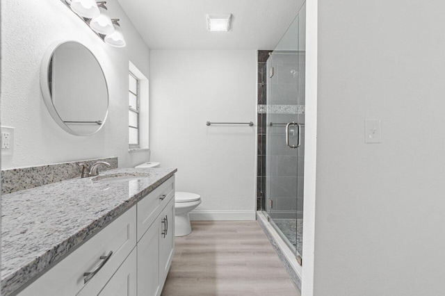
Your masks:
{"label": "vanity light fixture with white glass shades above the mirror", "polygon": [[60,0],[83,22],[88,24],[92,31],[106,44],[112,47],[124,47],[125,42],[119,19],[111,19],[106,8],[106,1],[95,0]]}

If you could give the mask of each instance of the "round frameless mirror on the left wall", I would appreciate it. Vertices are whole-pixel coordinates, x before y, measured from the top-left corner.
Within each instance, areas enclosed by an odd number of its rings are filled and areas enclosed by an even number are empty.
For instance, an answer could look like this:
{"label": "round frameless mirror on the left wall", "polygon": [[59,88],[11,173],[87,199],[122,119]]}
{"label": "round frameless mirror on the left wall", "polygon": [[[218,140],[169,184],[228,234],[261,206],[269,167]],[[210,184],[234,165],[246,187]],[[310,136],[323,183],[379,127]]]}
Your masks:
{"label": "round frameless mirror on the left wall", "polygon": [[68,133],[92,135],[104,125],[108,88],[102,67],[79,42],[54,44],[42,60],[40,87],[49,113]]}

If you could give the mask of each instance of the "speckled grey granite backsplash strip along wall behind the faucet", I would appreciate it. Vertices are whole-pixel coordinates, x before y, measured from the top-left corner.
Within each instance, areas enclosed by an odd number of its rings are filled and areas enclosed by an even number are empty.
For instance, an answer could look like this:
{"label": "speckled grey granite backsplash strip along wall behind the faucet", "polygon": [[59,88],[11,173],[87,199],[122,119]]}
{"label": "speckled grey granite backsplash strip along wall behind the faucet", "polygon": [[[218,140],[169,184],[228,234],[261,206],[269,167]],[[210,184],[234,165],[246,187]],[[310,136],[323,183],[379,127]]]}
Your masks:
{"label": "speckled grey granite backsplash strip along wall behind the faucet", "polygon": [[79,163],[90,167],[97,161],[106,161],[111,167],[101,166],[99,172],[113,170],[118,167],[117,157],[97,158],[87,161],[72,161],[70,163],[55,163],[35,167],[19,167],[17,169],[1,171],[1,194],[17,192],[43,186],[51,183],[78,178],[81,175]]}

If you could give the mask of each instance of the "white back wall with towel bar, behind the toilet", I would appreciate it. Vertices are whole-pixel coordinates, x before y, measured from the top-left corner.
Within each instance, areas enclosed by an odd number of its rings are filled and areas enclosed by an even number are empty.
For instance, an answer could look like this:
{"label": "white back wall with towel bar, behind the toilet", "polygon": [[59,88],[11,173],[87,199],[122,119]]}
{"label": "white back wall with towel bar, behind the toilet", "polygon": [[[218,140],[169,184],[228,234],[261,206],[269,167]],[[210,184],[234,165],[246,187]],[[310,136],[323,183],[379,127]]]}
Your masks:
{"label": "white back wall with towel bar, behind the toilet", "polygon": [[254,219],[255,126],[206,122],[255,122],[256,51],[152,50],[150,71],[151,160],[209,219]]}

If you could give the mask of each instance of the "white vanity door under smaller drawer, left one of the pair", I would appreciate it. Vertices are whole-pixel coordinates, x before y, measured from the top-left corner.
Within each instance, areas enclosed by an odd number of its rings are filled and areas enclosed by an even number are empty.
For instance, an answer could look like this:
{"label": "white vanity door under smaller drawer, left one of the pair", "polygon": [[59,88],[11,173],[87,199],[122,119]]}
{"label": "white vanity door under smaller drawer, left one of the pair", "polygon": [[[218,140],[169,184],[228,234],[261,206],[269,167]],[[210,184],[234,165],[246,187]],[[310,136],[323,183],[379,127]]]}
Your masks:
{"label": "white vanity door under smaller drawer, left one of the pair", "polygon": [[159,239],[161,222],[156,219],[138,242],[138,295],[161,294],[159,285]]}

